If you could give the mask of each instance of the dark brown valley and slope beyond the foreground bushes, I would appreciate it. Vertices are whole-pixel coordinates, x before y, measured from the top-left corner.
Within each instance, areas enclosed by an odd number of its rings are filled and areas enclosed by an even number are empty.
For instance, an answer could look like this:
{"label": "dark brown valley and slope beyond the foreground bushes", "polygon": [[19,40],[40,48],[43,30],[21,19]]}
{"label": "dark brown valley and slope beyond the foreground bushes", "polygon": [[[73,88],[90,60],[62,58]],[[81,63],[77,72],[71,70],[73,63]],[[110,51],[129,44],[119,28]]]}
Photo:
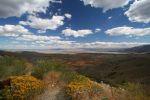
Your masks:
{"label": "dark brown valley and slope beyond the foreground bushes", "polygon": [[92,75],[92,78],[97,81],[115,81],[118,79],[117,83],[121,83],[123,80],[120,79],[123,77],[124,81],[150,83],[150,77],[148,77],[150,76],[149,54],[41,54],[35,52],[2,52],[0,55],[13,56],[19,59],[24,58],[33,64],[39,60],[61,61],[67,64],[71,70]]}

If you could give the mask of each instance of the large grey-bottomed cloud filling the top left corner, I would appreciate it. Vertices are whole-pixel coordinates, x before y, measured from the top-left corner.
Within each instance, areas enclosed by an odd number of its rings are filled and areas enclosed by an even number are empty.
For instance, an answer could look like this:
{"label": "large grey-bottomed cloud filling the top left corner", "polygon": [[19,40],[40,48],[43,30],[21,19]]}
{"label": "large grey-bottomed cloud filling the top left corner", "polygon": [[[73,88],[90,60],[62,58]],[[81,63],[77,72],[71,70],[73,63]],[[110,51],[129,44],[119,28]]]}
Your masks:
{"label": "large grey-bottomed cloud filling the top left corner", "polygon": [[50,1],[60,3],[58,0],[0,0],[0,17],[20,17],[25,13],[36,12],[45,13]]}

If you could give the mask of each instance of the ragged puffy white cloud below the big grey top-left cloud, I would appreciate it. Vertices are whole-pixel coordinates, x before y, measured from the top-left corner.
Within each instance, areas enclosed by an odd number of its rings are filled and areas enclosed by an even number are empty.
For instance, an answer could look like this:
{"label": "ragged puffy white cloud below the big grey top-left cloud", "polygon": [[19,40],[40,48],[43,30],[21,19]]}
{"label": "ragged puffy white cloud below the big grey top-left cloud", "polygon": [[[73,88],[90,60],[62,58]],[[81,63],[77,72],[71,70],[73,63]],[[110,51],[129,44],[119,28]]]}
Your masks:
{"label": "ragged puffy white cloud below the big grey top-left cloud", "polygon": [[51,19],[42,19],[37,16],[29,16],[28,21],[20,21],[22,25],[29,25],[32,28],[41,30],[56,30],[59,26],[64,25],[64,16],[53,16]]}

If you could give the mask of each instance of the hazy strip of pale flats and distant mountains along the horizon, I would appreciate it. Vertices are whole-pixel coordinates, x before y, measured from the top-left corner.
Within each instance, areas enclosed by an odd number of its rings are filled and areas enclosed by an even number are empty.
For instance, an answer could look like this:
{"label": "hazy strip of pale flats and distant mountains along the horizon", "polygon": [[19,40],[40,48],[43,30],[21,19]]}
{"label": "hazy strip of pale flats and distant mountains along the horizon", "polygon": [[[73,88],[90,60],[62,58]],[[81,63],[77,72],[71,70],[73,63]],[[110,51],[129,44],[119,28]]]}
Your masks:
{"label": "hazy strip of pale flats and distant mountains along the horizon", "polygon": [[108,48],[78,48],[78,49],[46,49],[46,50],[0,50],[1,54],[9,54],[13,52],[18,52],[22,54],[31,53],[62,53],[62,54],[74,54],[74,53],[150,53],[150,45],[142,45],[132,48],[122,48],[122,49],[108,49]]}

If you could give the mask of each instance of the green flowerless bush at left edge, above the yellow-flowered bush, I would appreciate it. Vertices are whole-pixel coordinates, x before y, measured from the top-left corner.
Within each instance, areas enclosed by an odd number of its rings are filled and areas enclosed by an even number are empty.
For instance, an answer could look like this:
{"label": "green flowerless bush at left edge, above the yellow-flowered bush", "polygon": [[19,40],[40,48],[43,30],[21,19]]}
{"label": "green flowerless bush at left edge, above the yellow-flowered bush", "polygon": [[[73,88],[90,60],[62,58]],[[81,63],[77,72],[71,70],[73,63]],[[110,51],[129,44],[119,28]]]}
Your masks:
{"label": "green flowerless bush at left edge, above the yellow-flowered bush", "polygon": [[0,57],[0,78],[24,75],[28,72],[28,62],[15,57]]}

